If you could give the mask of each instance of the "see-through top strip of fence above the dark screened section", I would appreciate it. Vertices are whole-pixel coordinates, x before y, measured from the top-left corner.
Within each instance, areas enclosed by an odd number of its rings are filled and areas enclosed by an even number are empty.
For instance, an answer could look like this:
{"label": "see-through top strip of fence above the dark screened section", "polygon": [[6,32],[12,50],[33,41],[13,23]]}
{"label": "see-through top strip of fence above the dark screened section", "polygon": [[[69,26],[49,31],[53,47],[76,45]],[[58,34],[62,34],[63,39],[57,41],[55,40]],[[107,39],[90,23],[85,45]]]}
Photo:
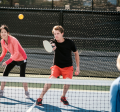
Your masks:
{"label": "see-through top strip of fence above the dark screened section", "polygon": [[120,0],[0,0],[1,7],[120,11]]}

